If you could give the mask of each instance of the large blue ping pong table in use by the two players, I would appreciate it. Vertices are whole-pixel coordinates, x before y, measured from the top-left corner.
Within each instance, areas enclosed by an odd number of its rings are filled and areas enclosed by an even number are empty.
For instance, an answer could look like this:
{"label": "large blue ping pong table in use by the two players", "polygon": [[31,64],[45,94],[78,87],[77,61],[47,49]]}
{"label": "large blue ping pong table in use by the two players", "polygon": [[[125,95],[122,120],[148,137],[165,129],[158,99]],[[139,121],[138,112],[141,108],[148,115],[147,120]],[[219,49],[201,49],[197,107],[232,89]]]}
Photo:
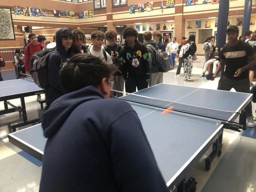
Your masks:
{"label": "large blue ping pong table in use by the two players", "polygon": [[[136,94],[186,105],[235,112],[244,109],[252,99],[252,94],[249,93],[172,84],[158,84],[140,90]],[[125,98],[127,96],[123,96],[122,99]],[[198,118],[193,114],[176,111],[163,116],[161,108],[136,102],[130,102],[130,104],[140,117],[169,191],[195,191],[195,179],[190,178],[186,183],[185,177],[211,146],[213,146],[212,153],[205,159],[207,170],[210,168],[212,159],[216,155],[221,155],[225,125],[215,119]],[[38,160],[43,159],[47,139],[43,136],[41,124],[9,134],[8,137],[11,143],[33,157]]]}

